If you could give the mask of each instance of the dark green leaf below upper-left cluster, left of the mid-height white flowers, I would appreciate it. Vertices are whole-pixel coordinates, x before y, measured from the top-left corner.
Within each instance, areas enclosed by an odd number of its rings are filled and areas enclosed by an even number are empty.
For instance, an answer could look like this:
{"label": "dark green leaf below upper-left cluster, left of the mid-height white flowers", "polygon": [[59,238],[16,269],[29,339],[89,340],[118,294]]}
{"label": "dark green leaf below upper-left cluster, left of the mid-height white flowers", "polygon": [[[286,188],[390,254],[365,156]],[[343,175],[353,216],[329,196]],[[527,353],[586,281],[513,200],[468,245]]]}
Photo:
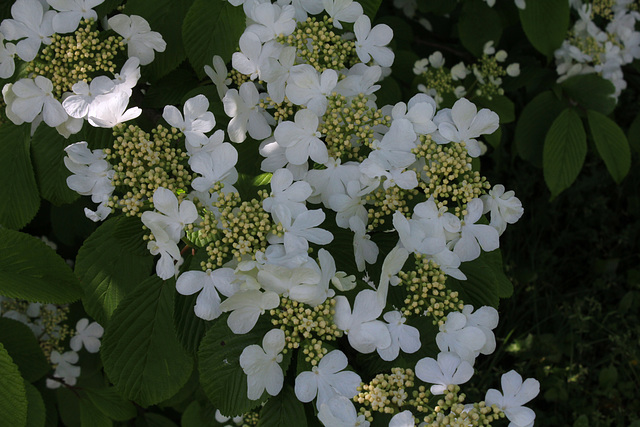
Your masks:
{"label": "dark green leaf below upper-left cluster, left of the mid-height white flowers", "polygon": [[54,205],[71,203],[80,197],[67,186],[71,172],[64,165],[64,148],[71,143],[57,130],[44,125],[38,126],[31,138],[31,156],[40,195]]}

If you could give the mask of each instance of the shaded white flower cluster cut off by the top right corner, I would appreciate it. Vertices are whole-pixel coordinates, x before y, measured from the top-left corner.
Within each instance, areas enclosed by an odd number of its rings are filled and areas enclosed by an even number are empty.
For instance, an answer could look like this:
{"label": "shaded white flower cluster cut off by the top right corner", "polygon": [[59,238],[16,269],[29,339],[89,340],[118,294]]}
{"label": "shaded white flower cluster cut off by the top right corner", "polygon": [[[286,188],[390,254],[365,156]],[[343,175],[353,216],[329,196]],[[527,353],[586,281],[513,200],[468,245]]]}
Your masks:
{"label": "shaded white flower cluster cut off by the top right corner", "polygon": [[558,81],[597,73],[613,83],[617,98],[627,87],[622,66],[640,58],[640,12],[628,0],[569,3],[579,19],[555,52]]}

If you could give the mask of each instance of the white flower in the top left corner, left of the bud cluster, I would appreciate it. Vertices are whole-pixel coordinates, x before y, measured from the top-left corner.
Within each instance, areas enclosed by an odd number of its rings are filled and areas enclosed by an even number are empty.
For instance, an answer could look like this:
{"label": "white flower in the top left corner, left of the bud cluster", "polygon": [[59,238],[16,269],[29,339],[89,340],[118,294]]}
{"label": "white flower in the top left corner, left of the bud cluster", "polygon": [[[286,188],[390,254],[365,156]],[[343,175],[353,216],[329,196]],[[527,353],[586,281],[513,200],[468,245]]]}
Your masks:
{"label": "white flower in the top left corner, left of the bud cluster", "polygon": [[11,6],[13,19],[0,23],[0,32],[7,40],[22,39],[16,44],[16,53],[23,61],[33,61],[41,43],[51,44],[56,12],[47,9],[38,0],[17,0]]}

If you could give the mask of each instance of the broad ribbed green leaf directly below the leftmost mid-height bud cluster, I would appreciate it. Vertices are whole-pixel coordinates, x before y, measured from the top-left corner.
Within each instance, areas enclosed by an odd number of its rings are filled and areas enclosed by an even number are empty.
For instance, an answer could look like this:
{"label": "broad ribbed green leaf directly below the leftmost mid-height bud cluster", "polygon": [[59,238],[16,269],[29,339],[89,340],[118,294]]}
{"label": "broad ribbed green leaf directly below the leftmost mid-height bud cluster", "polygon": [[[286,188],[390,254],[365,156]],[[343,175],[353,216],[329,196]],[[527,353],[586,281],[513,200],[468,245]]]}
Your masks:
{"label": "broad ribbed green leaf directly below the leftmost mid-height bud cluster", "polygon": [[151,272],[153,257],[143,235],[138,218],[110,218],[78,252],[76,275],[84,288],[82,303],[103,326],[120,301]]}

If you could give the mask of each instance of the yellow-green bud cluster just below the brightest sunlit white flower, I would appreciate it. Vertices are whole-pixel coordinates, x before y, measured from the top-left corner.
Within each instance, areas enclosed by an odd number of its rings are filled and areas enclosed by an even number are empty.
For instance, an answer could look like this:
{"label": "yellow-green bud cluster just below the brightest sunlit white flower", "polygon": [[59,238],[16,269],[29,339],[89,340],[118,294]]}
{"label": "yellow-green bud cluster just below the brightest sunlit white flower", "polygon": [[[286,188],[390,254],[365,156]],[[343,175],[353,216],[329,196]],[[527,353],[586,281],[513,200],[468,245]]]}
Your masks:
{"label": "yellow-green bud cluster just below the brightest sunlit white flower", "polygon": [[115,171],[113,185],[121,195],[113,195],[109,207],[121,209],[128,216],[140,216],[141,208],[159,187],[178,193],[190,187],[194,177],[187,152],[178,147],[182,133],[176,128],[158,125],[149,134],[138,126],[119,124],[113,135],[113,148],[106,148],[104,153]]}

